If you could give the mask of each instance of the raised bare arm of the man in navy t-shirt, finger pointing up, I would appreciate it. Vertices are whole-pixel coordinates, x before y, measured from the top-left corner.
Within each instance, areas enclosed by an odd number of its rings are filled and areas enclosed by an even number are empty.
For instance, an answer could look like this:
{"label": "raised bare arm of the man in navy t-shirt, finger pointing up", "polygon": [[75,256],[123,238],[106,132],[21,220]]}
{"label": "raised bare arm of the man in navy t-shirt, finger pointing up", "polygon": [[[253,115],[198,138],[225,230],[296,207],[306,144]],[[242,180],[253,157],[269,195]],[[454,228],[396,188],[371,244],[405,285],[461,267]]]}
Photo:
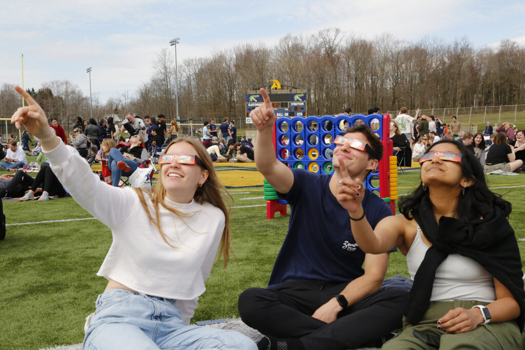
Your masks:
{"label": "raised bare arm of the man in navy t-shirt, finger pointing up", "polygon": [[265,89],[260,93],[264,102],[262,105],[250,112],[251,121],[257,128],[257,141],[254,148],[255,164],[266,180],[278,192],[288,193],[293,184],[293,173],[291,170],[277,160],[275,156],[272,135],[275,124],[274,108],[271,106],[270,96]]}

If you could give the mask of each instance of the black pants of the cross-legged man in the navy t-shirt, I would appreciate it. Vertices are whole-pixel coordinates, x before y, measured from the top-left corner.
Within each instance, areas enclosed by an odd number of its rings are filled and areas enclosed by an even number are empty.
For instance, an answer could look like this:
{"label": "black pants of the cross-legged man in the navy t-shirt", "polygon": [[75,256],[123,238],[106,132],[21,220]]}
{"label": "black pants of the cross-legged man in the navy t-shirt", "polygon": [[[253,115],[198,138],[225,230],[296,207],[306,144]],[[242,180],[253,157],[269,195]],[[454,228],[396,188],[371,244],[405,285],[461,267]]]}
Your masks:
{"label": "black pants of the cross-legged man in the navy t-shirt", "polygon": [[403,326],[408,292],[394,288],[350,305],[331,323],[311,317],[347,284],[294,281],[269,289],[250,288],[239,296],[239,314],[244,323],[262,334],[299,338],[307,350],[366,346]]}

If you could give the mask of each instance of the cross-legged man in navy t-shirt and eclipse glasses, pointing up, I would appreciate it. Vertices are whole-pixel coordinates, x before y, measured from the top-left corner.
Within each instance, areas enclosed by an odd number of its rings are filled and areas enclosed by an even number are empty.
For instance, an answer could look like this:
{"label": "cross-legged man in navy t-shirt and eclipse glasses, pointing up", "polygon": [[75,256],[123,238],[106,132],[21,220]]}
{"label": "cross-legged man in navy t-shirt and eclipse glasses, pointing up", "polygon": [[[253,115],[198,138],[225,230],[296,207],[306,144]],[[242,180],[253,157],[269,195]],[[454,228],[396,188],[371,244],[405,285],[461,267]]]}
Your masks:
{"label": "cross-legged man in navy t-shirt and eclipse glasses, pointing up", "polygon": [[[342,180],[339,162],[351,178],[364,179],[381,159],[381,141],[370,128],[359,125],[339,140],[343,145],[334,150],[332,175],[291,170],[276,158],[272,143],[276,117],[267,92],[260,91],[264,104],[250,114],[257,128],[257,169],[288,201],[291,214],[268,287],[241,293],[239,314],[248,326],[266,335],[257,344],[259,349],[381,346],[382,337],[402,326],[408,293],[380,291],[389,254],[361,251],[352,235],[349,212],[335,198]],[[364,150],[354,148],[356,143]],[[392,214],[368,190],[362,205],[372,228]]]}

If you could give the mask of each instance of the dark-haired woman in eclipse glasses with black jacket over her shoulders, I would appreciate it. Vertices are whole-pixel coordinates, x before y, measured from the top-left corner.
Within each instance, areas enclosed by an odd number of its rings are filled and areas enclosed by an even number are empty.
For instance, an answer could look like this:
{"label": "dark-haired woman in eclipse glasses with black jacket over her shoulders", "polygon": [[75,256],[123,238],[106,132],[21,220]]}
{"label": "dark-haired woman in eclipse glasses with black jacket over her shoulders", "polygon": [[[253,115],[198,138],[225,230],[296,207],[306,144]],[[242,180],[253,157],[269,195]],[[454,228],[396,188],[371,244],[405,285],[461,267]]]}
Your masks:
{"label": "dark-haired woman in eclipse glasses with black jacket over her shoulders", "polygon": [[[414,281],[404,330],[382,349],[521,349],[525,291],[511,203],[488,189],[461,143],[438,141],[419,162],[421,183],[401,200],[403,215],[375,228],[351,222],[363,251],[397,246]],[[368,217],[361,184],[349,174],[337,194],[353,218]]]}

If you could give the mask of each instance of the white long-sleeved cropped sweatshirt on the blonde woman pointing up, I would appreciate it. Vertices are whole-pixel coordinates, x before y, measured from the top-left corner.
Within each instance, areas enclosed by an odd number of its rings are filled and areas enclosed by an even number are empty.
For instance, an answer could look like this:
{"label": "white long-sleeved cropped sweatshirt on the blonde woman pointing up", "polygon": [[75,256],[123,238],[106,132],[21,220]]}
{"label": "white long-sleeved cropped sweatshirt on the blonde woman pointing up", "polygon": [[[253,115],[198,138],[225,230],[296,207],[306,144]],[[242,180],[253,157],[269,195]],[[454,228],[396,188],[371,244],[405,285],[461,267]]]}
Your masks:
{"label": "white long-sleeved cropped sweatshirt on the blonde woman pointing up", "polygon": [[[212,270],[224,213],[209,203],[182,204],[165,198],[165,204],[187,215],[179,217],[160,207],[161,227],[174,248],[162,239],[131,188],[100,181],[86,160],[62,142],[45,153],[71,196],[111,229],[113,242],[98,275],[139,293],[176,299],[182,319],[189,323]],[[148,196],[146,202],[155,215]]]}

